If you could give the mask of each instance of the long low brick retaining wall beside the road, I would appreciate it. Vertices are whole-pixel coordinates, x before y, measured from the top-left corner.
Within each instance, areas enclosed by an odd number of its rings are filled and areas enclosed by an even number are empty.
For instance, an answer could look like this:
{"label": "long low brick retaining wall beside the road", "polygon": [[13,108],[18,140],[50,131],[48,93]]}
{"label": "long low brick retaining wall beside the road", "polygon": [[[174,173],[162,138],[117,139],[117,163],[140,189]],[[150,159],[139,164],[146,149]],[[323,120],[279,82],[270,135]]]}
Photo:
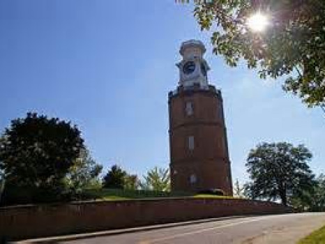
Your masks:
{"label": "long low brick retaining wall beside the road", "polygon": [[[163,209],[163,211],[162,211]],[[55,236],[227,215],[288,213],[280,204],[245,199],[143,199],[0,208],[0,236]]]}

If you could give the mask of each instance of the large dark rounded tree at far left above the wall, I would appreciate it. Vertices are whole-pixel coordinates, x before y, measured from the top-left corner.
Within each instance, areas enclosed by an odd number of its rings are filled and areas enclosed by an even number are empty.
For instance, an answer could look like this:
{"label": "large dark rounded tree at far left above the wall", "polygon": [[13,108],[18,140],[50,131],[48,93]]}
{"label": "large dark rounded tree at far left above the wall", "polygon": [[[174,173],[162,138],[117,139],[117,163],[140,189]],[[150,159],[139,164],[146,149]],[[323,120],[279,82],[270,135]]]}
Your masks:
{"label": "large dark rounded tree at far left above the wall", "polygon": [[19,190],[36,201],[43,197],[40,191],[53,196],[61,193],[63,178],[84,148],[75,125],[36,113],[11,121],[3,138],[0,169],[6,181],[5,197]]}

